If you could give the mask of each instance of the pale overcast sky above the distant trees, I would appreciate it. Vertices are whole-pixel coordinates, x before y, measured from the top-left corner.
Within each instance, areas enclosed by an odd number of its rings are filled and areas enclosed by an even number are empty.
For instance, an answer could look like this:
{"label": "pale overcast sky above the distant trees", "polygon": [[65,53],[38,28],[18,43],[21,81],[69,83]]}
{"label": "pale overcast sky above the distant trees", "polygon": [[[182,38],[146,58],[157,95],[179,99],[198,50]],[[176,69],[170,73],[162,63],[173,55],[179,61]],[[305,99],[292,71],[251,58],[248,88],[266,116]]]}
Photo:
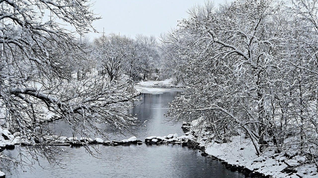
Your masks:
{"label": "pale overcast sky above the distant trees", "polygon": [[[135,37],[136,34],[160,36],[176,27],[177,20],[187,17],[188,8],[204,0],[92,0],[93,10],[102,16],[94,22],[100,32],[120,33]],[[216,4],[224,0],[215,0]],[[89,33],[92,39],[102,34]]]}

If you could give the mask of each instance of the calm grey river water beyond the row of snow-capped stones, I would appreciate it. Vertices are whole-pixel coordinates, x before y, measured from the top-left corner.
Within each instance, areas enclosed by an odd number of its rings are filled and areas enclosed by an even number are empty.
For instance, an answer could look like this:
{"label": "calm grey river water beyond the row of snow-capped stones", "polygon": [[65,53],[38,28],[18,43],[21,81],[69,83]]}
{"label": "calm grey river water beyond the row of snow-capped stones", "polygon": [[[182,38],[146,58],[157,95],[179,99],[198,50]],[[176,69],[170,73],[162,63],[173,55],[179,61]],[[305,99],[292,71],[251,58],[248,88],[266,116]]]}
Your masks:
{"label": "calm grey river water beyond the row of snow-capped stones", "polygon": [[[154,132],[158,128],[164,128],[168,129],[169,126],[162,125],[164,123],[164,117],[163,114],[166,112],[165,105],[171,102],[174,97],[177,95],[177,92],[166,92],[163,94],[142,94],[142,102],[136,102],[134,105],[136,105],[135,108],[133,108],[131,111],[128,111],[128,113],[132,115],[136,115],[141,125],[139,126],[132,126],[130,128],[131,133],[124,132],[124,135],[121,135],[120,132],[113,133],[111,128],[108,125],[99,123],[96,124],[100,129],[105,129],[107,131],[108,138],[103,139],[122,139],[122,137],[130,137],[132,135],[136,136],[148,136],[146,135],[149,133],[150,135],[152,132]],[[145,120],[148,120],[148,122],[143,123]],[[143,125],[147,125],[144,127]],[[169,125],[171,125],[169,123]],[[65,123],[64,121],[57,121],[54,124],[52,124],[52,129],[55,131],[56,134],[61,134],[63,136],[67,137],[73,137],[72,131],[69,129],[69,124]],[[88,128],[90,129],[90,128]],[[173,130],[178,130],[180,128],[173,127]],[[171,130],[171,129],[170,129]],[[116,131],[116,130],[115,130]],[[162,130],[164,131],[164,130]],[[100,135],[95,136],[95,132],[91,132],[92,137],[100,137]],[[77,137],[80,137],[79,135]],[[143,139],[143,138],[138,138]]]}

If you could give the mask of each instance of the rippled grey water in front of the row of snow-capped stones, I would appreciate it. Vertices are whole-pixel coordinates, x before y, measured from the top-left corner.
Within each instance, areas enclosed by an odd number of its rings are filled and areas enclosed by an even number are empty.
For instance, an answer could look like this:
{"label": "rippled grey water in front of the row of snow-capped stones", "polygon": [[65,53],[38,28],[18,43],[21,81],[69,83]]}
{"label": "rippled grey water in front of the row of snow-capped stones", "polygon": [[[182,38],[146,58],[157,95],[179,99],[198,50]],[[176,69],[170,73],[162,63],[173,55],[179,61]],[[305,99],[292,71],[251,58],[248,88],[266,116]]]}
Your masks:
{"label": "rippled grey water in front of the row of snow-capped stones", "polygon": [[58,158],[66,164],[66,169],[49,165],[45,161],[42,170],[20,173],[8,177],[202,177],[202,178],[241,178],[237,172],[230,172],[218,161],[203,157],[197,150],[180,145],[130,145],[102,146],[98,158],[84,154],[83,147],[66,147],[66,152]]}

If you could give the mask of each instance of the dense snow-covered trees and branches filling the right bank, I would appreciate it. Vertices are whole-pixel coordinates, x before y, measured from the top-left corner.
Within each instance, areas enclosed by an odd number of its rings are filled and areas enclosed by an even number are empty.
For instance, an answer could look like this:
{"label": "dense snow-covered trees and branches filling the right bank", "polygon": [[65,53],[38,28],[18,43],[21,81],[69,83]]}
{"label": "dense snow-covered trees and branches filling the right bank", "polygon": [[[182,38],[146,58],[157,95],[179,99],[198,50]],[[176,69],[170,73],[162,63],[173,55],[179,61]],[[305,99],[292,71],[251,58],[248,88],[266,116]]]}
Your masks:
{"label": "dense snow-covered trees and branches filling the right bank", "polygon": [[190,9],[163,39],[188,86],[167,115],[199,118],[211,140],[243,133],[259,155],[295,150],[317,166],[317,10],[302,0]]}

